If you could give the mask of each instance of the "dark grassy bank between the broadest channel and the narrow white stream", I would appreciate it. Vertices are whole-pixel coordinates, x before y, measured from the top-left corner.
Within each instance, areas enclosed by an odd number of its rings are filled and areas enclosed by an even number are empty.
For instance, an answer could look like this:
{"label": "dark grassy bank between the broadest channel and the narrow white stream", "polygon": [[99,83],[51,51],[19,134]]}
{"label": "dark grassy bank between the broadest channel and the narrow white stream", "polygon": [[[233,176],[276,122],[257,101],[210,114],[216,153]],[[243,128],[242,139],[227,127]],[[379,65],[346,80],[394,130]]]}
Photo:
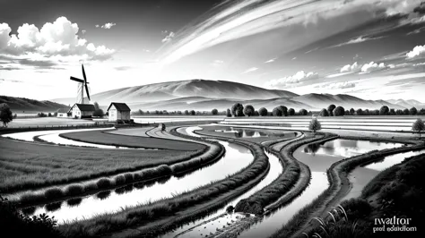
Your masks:
{"label": "dark grassy bank between the broadest channel and the narrow white stream", "polygon": [[[249,166],[236,174],[230,175],[226,179],[212,182],[194,191],[178,194],[171,199],[160,200],[152,204],[144,204],[134,208],[125,208],[123,211],[115,214],[101,215],[90,220],[62,225],[60,228],[70,237],[115,233],[128,227],[140,227],[159,222],[160,219],[174,216],[184,209],[190,209],[196,205],[214,200],[223,193],[232,193],[240,186],[244,186],[244,184],[256,180],[258,176],[264,174],[269,166],[268,159],[260,146],[242,141],[238,141],[237,143],[251,149],[252,153],[255,155],[255,159]],[[196,211],[196,213],[202,212],[203,210]],[[148,231],[145,230],[145,234],[159,232],[157,228],[158,227],[152,227],[152,229]]]}

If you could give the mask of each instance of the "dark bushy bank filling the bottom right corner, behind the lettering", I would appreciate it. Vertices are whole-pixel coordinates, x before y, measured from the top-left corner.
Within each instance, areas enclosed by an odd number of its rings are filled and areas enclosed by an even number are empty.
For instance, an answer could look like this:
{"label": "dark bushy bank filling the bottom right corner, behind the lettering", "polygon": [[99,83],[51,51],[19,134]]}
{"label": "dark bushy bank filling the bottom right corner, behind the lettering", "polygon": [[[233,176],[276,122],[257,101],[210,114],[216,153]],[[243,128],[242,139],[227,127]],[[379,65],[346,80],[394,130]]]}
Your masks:
{"label": "dark bushy bank filling the bottom right corner, behind the lettering", "polygon": [[[424,237],[421,225],[425,222],[424,184],[425,154],[406,158],[403,163],[391,166],[378,174],[363,189],[360,199],[344,200],[308,234],[321,237]],[[410,219],[408,224],[388,224],[377,230],[376,219]],[[403,225],[411,231],[395,231]]]}

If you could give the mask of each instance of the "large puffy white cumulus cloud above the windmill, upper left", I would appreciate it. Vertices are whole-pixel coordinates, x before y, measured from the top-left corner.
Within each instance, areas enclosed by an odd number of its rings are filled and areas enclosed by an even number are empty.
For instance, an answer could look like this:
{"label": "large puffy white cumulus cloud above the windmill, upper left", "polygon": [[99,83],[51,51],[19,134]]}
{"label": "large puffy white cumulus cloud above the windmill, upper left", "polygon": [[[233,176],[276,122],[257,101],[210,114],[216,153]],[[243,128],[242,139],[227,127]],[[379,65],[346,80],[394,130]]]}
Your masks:
{"label": "large puffy white cumulus cloud above the windmill, upper left", "polygon": [[[106,60],[115,50],[105,46],[94,46],[84,38],[79,38],[77,23],[59,17],[47,22],[39,30],[33,24],[25,23],[17,34],[9,36],[12,29],[7,23],[0,24],[0,55],[18,55],[24,58],[43,55],[48,59],[56,55],[80,57],[81,60]],[[39,57],[37,57],[39,58]]]}

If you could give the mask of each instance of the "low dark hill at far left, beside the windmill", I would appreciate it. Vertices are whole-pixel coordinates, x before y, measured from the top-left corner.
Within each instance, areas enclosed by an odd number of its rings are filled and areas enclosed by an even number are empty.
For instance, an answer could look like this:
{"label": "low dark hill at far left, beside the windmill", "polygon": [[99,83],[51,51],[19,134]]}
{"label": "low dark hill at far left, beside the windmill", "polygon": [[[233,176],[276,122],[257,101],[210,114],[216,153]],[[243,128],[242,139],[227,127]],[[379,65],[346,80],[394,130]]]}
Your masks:
{"label": "low dark hill at far left, beside the windmill", "polygon": [[2,103],[6,103],[8,106],[10,106],[13,113],[17,113],[16,111],[53,112],[59,108],[69,107],[51,101],[39,101],[28,98],[14,98],[8,96],[0,96],[0,104]]}

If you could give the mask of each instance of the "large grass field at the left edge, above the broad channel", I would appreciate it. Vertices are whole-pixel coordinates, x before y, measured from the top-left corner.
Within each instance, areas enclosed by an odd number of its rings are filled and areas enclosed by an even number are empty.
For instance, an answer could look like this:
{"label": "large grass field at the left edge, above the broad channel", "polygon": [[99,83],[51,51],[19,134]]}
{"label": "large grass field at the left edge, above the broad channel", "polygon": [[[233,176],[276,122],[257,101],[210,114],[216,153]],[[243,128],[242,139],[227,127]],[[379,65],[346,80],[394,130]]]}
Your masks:
{"label": "large grass field at the left edge, above the broad channel", "polygon": [[89,149],[0,139],[0,191],[70,183],[148,166],[174,164],[196,151]]}

